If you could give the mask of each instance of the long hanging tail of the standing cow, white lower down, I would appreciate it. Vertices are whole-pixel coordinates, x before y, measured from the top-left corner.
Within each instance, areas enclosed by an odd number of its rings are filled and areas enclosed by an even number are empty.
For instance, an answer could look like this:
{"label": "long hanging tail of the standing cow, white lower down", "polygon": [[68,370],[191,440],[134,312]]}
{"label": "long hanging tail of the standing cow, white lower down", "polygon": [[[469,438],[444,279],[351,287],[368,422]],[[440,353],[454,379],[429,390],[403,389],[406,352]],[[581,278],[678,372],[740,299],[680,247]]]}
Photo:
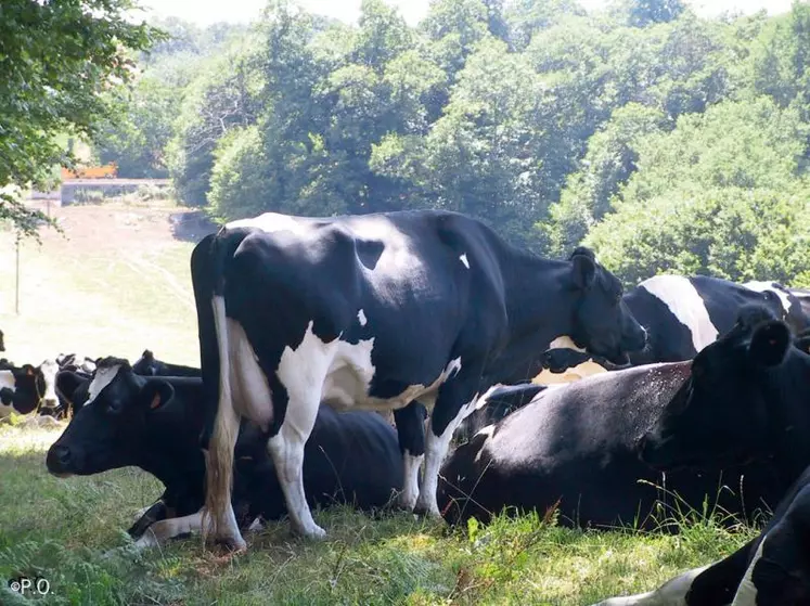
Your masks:
{"label": "long hanging tail of the standing cow, white lower down", "polygon": [[228,334],[228,322],[226,319],[224,288],[223,288],[223,250],[218,244],[219,238],[211,243],[210,260],[213,261],[213,273],[215,275],[213,288],[209,291],[214,332],[217,341],[218,374],[217,389],[217,413],[214,418],[214,428],[208,443],[208,456],[206,459],[206,497],[204,518],[211,517],[210,525],[203,520],[203,533],[207,536],[214,532],[216,538],[227,537],[233,528],[222,528],[227,524],[228,511],[231,504],[231,490],[233,487],[233,450],[239,434],[240,415],[234,409],[231,396],[231,359]]}

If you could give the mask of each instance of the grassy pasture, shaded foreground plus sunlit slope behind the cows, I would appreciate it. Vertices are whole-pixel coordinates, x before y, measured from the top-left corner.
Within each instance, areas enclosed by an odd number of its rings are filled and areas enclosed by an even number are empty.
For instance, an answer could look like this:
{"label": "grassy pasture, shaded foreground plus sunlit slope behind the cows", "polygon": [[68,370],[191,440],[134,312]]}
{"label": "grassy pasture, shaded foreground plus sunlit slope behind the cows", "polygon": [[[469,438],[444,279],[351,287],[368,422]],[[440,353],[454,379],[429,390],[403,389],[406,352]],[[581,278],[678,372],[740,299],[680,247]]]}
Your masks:
{"label": "grassy pasture, shaded foreground plus sunlit slope behind the cows", "polygon": [[[67,240],[42,230],[21,255],[14,313],[14,241],[0,232],[0,327],[11,360],[60,352],[133,361],[144,348],[198,364],[189,255],[172,206],[53,209]],[[198,234],[202,235],[202,234]],[[314,512],[329,539],[290,534],[285,521],[247,534],[249,551],[204,551],[198,538],[137,553],[134,512],[160,493],[131,468],[59,479],[44,452],[61,429],[0,427],[0,604],[29,603],[8,580],[41,577],[43,604],[542,604],[588,605],[646,591],[731,553],[756,529],[721,529],[719,512],[674,514],[678,536],[567,529],[555,516],[499,517],[449,529],[404,513]],[[661,514],[661,516],[671,514]],[[664,517],[661,517],[661,521]]]}

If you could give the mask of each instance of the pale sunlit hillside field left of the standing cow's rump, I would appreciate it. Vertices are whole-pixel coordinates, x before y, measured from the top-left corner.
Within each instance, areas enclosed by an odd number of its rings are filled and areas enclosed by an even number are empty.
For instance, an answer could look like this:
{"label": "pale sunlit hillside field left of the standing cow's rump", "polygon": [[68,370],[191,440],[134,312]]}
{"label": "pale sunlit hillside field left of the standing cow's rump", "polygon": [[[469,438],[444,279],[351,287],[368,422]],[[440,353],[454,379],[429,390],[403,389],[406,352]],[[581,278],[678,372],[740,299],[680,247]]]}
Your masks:
{"label": "pale sunlit hillside field left of the standing cow's rump", "polygon": [[160,359],[198,364],[189,258],[205,232],[188,233],[183,218],[193,215],[118,203],[51,212],[64,235],[41,228],[41,245],[21,245],[20,315],[14,234],[0,232],[4,356],[17,363],[61,352],[134,361],[150,348]]}

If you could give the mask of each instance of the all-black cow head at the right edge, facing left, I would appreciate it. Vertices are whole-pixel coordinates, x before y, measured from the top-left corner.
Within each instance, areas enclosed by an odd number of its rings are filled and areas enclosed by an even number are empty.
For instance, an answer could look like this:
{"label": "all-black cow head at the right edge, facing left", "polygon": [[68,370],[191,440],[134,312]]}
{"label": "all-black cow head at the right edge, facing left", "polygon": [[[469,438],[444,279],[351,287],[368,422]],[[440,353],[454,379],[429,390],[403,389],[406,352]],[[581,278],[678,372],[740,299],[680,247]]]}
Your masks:
{"label": "all-black cow head at the right edge, facing left", "polygon": [[790,418],[805,416],[792,407],[805,405],[808,388],[810,357],[792,346],[785,323],[744,307],[734,327],[695,356],[690,377],[642,437],[640,456],[659,469],[769,456],[790,430],[807,429]]}

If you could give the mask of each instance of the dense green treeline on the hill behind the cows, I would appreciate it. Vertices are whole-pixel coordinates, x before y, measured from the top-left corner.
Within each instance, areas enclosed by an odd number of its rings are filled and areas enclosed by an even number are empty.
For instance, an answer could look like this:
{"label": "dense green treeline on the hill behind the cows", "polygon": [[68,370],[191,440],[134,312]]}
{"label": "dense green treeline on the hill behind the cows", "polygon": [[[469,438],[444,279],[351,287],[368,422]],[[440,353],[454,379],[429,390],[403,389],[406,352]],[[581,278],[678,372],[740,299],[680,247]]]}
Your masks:
{"label": "dense green treeline on the hill behind the cows", "polygon": [[272,0],[178,21],[98,141],[220,219],[448,208],[628,283],[810,285],[810,7],[708,21],[680,0],[382,0],[358,25]]}

